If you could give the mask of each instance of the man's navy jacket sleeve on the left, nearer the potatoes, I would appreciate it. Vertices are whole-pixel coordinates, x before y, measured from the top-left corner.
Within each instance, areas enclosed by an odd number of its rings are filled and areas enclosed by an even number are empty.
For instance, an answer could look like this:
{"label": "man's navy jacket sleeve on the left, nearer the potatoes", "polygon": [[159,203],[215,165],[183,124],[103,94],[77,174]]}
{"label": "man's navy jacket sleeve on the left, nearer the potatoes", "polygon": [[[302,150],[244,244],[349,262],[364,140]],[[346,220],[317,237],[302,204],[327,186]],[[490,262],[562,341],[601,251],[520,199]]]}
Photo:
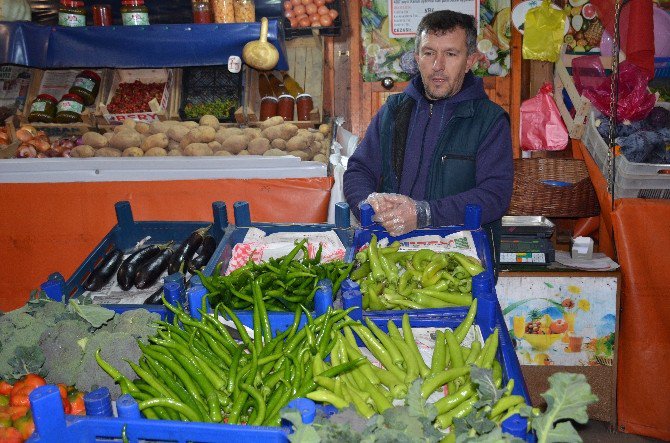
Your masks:
{"label": "man's navy jacket sleeve on the left, nearer the potatoes", "polygon": [[380,115],[383,110],[384,108],[373,117],[365,132],[365,137],[349,158],[347,170],[344,172],[344,198],[359,220],[360,210],[358,205],[368,195],[377,191],[381,181],[382,161],[381,147],[379,146],[379,127]]}

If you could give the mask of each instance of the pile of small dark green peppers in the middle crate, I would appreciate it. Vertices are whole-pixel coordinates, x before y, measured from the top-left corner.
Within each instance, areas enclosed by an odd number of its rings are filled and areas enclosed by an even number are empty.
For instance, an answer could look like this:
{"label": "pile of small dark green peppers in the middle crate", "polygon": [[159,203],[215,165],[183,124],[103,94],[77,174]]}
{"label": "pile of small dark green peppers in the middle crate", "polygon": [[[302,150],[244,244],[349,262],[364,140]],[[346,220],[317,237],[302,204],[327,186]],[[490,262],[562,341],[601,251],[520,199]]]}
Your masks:
{"label": "pile of small dark green peppers in the middle crate", "polygon": [[[301,305],[312,310],[319,281],[330,279],[333,294],[336,294],[354,264],[341,260],[321,263],[321,246],[315,257],[310,259],[306,243],[307,240],[303,239],[284,257],[271,258],[264,263],[256,264],[249,260],[228,275],[220,275],[221,263],[211,277],[199,274],[202,284],[209,291],[211,305],[223,303],[232,309],[250,309],[253,305],[253,282],[258,282],[268,310],[293,312]],[[295,257],[301,251],[304,258],[297,260]]]}

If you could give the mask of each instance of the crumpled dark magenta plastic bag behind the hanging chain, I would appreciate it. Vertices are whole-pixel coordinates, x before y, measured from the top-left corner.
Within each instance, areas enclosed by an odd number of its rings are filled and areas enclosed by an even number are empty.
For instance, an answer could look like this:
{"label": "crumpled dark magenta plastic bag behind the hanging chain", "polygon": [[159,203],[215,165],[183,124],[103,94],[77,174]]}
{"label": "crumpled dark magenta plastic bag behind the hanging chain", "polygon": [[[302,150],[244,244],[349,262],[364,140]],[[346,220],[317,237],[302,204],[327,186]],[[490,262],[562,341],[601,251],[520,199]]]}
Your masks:
{"label": "crumpled dark magenta plastic bag behind the hanging chain", "polygon": [[[579,59],[585,59],[580,60]],[[578,61],[577,66],[575,62]],[[605,76],[598,81],[597,75],[590,77],[586,72],[603,72],[605,69],[598,56],[577,57],[572,62],[577,91],[588,98],[593,106],[610,116],[611,77]],[[619,99],[617,101],[617,122],[624,120],[643,120],[651,112],[656,103],[656,96],[647,90],[649,73],[625,60],[619,64]]]}

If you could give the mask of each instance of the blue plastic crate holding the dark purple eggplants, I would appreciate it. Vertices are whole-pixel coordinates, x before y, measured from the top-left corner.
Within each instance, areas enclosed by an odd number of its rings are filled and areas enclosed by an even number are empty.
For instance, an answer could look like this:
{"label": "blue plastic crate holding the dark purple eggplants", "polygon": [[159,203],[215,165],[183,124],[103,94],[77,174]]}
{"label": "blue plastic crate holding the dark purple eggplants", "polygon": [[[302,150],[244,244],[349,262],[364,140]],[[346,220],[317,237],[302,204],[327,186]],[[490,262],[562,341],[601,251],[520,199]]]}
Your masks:
{"label": "blue plastic crate holding the dark purple eggplants", "polygon": [[[117,224],[102,239],[102,241],[86,257],[86,260],[77,268],[72,276],[66,281],[60,273],[54,273],[49,276],[41,288],[48,297],[58,301],[68,301],[71,298],[79,297],[85,290],[84,282],[90,275],[97,263],[112,248],[119,248],[123,251],[130,251],[140,240],[145,237],[151,237],[147,244],[160,244],[174,240],[179,244],[185,240],[194,230],[207,225],[212,225],[209,233],[221,242],[224,237],[232,231],[228,224],[226,214],[226,204],[224,202],[214,202],[212,204],[213,221],[135,221],[127,201],[117,202],[114,205],[116,210]],[[214,256],[212,257],[212,259]],[[147,293],[147,296],[150,294]],[[129,309],[142,307],[152,312],[158,312],[165,315],[166,309],[161,305],[129,305],[129,304],[103,304],[115,312],[124,312]]]}

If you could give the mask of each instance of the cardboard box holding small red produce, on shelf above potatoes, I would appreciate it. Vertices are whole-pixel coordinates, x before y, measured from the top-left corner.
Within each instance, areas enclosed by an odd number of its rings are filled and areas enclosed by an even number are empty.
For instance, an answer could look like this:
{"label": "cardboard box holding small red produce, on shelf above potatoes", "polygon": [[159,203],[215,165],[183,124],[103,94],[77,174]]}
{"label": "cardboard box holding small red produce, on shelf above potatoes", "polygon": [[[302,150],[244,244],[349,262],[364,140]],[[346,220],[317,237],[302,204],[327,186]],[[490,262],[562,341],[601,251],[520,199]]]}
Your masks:
{"label": "cardboard box holding small red produce, on shelf above potatoes", "polygon": [[[167,120],[170,118],[170,104],[173,89],[176,87],[175,69],[116,69],[109,76],[106,94],[98,107],[99,123],[120,124],[124,120],[133,119],[150,123],[155,120]],[[132,83],[139,80],[142,83],[165,83],[161,101],[153,99],[149,102],[151,111],[135,112],[128,114],[112,114],[107,106],[112,102],[120,83]]]}

